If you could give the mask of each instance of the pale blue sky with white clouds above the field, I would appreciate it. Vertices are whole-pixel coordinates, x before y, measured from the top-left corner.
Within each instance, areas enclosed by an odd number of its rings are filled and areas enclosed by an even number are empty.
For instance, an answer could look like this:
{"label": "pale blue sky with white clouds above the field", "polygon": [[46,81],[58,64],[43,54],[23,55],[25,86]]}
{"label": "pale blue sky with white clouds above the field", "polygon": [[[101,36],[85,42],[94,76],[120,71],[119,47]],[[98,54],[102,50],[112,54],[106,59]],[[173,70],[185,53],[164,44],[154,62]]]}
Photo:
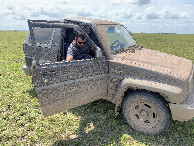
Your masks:
{"label": "pale blue sky with white clouds above the field", "polygon": [[194,34],[194,0],[0,0],[0,30],[28,30],[28,19],[92,17],[133,33]]}

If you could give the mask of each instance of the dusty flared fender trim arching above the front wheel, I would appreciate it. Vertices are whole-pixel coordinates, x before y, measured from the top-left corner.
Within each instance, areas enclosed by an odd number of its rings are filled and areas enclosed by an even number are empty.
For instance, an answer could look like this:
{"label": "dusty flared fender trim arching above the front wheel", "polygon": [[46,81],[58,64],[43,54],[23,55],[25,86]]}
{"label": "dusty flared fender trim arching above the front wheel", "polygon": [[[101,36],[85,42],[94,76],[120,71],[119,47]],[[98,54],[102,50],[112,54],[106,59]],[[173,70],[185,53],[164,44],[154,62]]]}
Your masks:
{"label": "dusty flared fender trim arching above the front wheel", "polygon": [[180,87],[148,81],[148,80],[125,78],[118,85],[116,94],[113,98],[114,103],[116,103],[116,107],[115,107],[116,114],[118,114],[117,111],[122,103],[124,93],[128,89],[133,89],[133,90],[138,89],[138,90],[157,92],[160,95],[162,95],[166,101],[169,101],[172,103],[182,102],[182,100],[184,99],[180,97],[181,93],[183,92],[183,89]]}

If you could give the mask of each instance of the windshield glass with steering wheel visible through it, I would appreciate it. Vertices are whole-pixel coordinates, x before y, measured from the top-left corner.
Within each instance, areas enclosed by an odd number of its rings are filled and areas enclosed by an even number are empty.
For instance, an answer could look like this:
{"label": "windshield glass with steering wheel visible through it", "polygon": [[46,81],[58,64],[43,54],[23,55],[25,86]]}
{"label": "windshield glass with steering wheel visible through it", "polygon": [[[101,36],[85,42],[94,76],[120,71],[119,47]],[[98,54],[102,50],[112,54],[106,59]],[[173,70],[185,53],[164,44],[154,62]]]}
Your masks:
{"label": "windshield glass with steering wheel visible through it", "polygon": [[136,44],[136,41],[123,26],[109,26],[107,39],[112,52]]}

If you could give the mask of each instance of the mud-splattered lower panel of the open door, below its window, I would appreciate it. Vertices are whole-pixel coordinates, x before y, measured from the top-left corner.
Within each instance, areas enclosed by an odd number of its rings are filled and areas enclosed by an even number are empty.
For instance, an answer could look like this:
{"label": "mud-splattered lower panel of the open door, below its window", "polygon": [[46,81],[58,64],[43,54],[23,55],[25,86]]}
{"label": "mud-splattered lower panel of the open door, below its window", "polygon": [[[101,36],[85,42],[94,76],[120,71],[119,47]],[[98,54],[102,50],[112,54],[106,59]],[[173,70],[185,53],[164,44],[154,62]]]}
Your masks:
{"label": "mud-splattered lower panel of the open door, below its window", "polygon": [[107,95],[106,60],[85,60],[42,65],[33,82],[44,116],[71,109]]}

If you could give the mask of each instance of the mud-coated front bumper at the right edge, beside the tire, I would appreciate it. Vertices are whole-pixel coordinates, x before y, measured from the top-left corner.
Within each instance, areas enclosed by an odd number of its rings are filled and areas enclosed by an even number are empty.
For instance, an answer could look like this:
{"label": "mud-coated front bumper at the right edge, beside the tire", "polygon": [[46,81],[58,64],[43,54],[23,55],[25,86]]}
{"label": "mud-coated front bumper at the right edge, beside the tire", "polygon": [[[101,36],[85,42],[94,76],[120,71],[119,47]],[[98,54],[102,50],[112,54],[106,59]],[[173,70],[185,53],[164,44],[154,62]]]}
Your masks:
{"label": "mud-coated front bumper at the right edge, beside the tire", "polygon": [[182,104],[169,104],[173,120],[188,121],[194,117],[194,79],[191,94]]}

